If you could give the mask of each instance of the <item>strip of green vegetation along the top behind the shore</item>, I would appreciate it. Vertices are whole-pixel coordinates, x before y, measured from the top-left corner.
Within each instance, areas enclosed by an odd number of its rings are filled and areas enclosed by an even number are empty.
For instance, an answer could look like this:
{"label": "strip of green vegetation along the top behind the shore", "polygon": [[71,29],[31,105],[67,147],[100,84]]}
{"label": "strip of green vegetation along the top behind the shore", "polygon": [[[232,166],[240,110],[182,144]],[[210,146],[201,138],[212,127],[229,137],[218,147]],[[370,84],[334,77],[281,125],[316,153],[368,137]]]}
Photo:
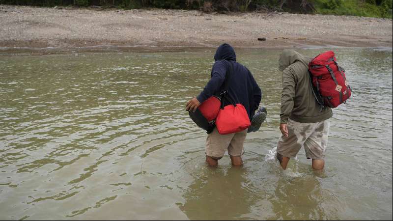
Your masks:
{"label": "strip of green vegetation along the top behind the shore", "polygon": [[287,11],[392,18],[393,0],[0,0],[0,4],[33,6],[115,6],[212,11]]}

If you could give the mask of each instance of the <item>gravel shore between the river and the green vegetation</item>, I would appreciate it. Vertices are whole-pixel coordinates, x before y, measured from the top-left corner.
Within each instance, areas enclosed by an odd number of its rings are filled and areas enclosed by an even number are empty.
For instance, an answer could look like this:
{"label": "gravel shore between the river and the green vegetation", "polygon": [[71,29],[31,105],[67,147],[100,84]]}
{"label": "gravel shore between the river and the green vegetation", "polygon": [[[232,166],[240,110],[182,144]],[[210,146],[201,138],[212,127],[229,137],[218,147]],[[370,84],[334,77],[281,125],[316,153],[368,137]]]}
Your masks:
{"label": "gravel shore between the river and the green vegetation", "polygon": [[[258,41],[264,37],[265,41]],[[288,13],[206,14],[0,5],[0,47],[392,47],[392,20]]]}

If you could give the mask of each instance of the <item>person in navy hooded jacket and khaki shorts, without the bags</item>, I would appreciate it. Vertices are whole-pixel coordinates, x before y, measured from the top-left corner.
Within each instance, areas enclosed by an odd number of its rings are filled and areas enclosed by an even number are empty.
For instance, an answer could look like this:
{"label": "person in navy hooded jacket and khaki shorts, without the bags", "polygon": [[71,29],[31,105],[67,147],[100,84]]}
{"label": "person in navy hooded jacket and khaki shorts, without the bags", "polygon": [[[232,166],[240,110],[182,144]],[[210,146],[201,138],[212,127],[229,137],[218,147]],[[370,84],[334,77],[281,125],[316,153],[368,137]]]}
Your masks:
{"label": "person in navy hooded jacket and khaki shorts, without the bags", "polygon": [[[258,108],[262,94],[251,72],[242,64],[236,62],[236,54],[228,44],[221,45],[214,55],[215,63],[211,72],[211,79],[203,91],[187,103],[187,111],[194,111],[205,100],[213,95],[218,95],[224,89],[225,79],[228,79],[228,94],[233,102],[242,104],[252,120],[254,111]],[[232,65],[230,76],[227,70]],[[228,78],[229,77],[229,78]],[[228,105],[228,103],[224,103]],[[247,136],[247,129],[238,133],[221,135],[217,128],[208,135],[206,140],[206,161],[211,166],[216,166],[225,151],[231,157],[233,165],[242,165],[241,156],[244,153],[243,143]]]}

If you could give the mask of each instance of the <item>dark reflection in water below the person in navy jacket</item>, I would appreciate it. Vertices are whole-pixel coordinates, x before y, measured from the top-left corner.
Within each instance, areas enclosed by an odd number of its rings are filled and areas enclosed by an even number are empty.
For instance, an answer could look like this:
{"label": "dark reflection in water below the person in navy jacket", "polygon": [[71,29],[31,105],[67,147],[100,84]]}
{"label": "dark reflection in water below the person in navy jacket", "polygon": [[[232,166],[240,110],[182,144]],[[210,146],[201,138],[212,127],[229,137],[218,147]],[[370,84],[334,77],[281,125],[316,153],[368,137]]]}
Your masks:
{"label": "dark reflection in water below the person in navy jacket", "polygon": [[250,213],[256,202],[247,187],[248,176],[244,167],[207,168],[183,195],[186,201],[180,209],[190,220],[239,219]]}

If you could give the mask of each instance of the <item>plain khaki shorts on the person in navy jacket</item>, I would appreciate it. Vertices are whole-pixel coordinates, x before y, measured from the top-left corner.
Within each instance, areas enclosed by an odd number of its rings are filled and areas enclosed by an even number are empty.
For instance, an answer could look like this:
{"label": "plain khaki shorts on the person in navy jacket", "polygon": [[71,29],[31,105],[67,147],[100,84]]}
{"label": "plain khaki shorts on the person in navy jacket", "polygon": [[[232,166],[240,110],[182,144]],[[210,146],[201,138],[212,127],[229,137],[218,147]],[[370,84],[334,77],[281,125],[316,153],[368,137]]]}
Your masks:
{"label": "plain khaki shorts on the person in navy jacket", "polygon": [[235,134],[219,134],[217,128],[207,136],[205,153],[209,157],[222,158],[225,151],[233,157],[242,156],[244,153],[244,140],[247,136],[247,129]]}

